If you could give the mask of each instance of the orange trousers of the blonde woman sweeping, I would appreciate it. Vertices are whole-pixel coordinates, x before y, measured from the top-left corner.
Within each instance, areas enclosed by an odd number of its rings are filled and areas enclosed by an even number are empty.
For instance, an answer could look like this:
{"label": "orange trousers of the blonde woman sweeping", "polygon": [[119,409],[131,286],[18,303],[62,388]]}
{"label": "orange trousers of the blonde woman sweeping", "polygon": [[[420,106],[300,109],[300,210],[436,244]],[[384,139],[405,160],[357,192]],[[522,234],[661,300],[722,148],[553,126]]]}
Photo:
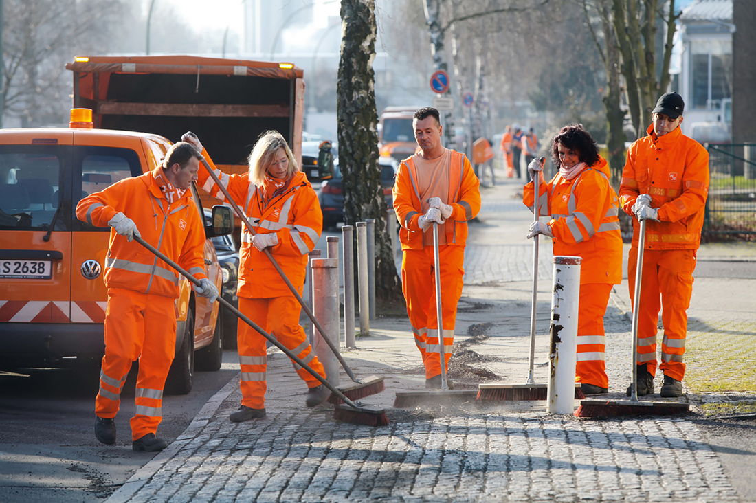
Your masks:
{"label": "orange trousers of the blonde woman sweeping", "polygon": [[[293,295],[269,299],[239,297],[241,312],[325,378],[323,364],[315,356],[312,347],[307,342],[304,329],[299,325],[300,309]],[[239,321],[237,344],[241,366],[241,405],[249,408],[265,408],[265,391],[268,390],[268,382],[265,380],[265,371],[268,366],[265,351],[267,342],[268,340],[258,331],[243,321]],[[312,374],[293,361],[292,363],[296,373],[307,383],[308,388],[321,385],[321,381]]]}

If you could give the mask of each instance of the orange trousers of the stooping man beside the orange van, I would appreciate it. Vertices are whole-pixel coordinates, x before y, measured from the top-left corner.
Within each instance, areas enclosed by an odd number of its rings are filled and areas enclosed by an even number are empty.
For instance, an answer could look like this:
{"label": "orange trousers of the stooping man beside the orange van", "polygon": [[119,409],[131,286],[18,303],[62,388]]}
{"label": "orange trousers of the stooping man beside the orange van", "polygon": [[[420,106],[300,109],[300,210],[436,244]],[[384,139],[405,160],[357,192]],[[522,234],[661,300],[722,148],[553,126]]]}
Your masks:
{"label": "orange trousers of the stooping man beside the orange van", "polygon": [[115,418],[132,362],[139,360],[132,440],[156,433],[163,420],[163,387],[176,347],[175,301],[122,288],[107,290],[105,355],[95,414]]}

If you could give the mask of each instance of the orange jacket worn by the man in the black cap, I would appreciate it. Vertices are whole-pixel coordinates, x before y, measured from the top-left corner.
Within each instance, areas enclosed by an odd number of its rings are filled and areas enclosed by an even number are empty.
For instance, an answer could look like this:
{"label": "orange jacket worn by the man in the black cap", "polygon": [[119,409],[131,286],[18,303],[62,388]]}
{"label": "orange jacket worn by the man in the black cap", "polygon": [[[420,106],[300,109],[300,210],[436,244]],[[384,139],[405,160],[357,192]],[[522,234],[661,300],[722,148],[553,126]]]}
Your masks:
{"label": "orange jacket worn by the man in the black cap", "polygon": [[[680,128],[656,138],[653,126],[627,151],[619,197],[622,209],[631,208],[640,194],[651,196],[659,222],[646,225],[650,250],[696,250],[708,196],[708,152]],[[633,246],[638,244],[638,221],[633,219]]]}

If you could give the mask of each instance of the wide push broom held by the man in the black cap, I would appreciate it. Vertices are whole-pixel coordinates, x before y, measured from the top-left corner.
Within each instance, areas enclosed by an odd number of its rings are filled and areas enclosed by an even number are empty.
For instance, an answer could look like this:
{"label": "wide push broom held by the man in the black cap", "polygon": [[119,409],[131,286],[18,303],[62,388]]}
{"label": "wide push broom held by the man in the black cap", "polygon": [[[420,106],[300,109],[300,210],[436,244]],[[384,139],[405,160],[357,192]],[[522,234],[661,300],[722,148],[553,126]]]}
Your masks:
{"label": "wide push broom held by the man in the black cap", "polygon": [[638,399],[638,308],[640,307],[641,272],[643,271],[643,247],[646,246],[646,220],[640,221],[638,233],[638,261],[635,268],[635,299],[633,300],[633,351],[631,367],[632,377],[630,383],[629,400],[581,400],[576,418],[615,418],[618,416],[638,415],[680,415],[689,411],[689,405],[683,402],[653,402],[651,400],[640,401]]}

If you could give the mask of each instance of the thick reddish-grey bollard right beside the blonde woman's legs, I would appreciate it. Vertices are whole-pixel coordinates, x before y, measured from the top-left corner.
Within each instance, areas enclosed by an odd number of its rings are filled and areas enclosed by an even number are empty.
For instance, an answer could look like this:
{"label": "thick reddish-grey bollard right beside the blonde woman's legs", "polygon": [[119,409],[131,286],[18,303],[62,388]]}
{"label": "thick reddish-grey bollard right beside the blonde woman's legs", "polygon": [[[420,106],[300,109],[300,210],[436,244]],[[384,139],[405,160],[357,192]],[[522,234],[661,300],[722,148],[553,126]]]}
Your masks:
{"label": "thick reddish-grey bollard right beside the blonde woman's legs", "polygon": [[312,312],[327,334],[313,331],[312,348],[323,364],[327,380],[339,386],[339,362],[323,340],[339,344],[339,259],[312,259]]}

